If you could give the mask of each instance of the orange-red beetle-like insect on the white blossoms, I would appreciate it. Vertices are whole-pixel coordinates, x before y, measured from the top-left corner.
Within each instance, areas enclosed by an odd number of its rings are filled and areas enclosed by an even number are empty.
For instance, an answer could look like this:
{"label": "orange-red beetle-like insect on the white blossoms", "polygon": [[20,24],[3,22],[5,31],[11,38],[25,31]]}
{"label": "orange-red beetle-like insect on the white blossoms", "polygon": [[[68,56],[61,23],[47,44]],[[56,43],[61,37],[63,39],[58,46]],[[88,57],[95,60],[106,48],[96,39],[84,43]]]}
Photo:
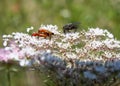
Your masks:
{"label": "orange-red beetle-like insect on the white blossoms", "polygon": [[38,37],[44,37],[44,38],[49,37],[50,39],[52,35],[54,35],[54,33],[46,29],[39,29],[38,32],[34,32],[32,34],[32,36],[38,36]]}

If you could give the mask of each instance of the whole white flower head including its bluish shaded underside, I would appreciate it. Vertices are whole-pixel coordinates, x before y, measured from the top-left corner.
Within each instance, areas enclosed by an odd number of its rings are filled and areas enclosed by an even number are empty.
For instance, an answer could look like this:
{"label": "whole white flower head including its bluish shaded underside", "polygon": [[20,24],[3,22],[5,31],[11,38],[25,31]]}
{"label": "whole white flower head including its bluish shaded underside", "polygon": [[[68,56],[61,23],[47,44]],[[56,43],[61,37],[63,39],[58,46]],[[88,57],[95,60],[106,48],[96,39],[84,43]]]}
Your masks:
{"label": "whole white flower head including its bluish shaded underside", "polygon": [[[28,28],[27,32],[32,29]],[[3,45],[11,51],[8,61],[17,60],[21,66],[37,64],[55,68],[57,74],[68,75],[71,80],[75,76],[79,79],[82,71],[85,78],[98,79],[99,83],[102,76],[106,78],[113,71],[120,71],[120,41],[107,30],[88,28],[88,31],[64,34],[56,25],[41,25],[40,29],[54,35],[51,39],[19,32],[4,35]]]}

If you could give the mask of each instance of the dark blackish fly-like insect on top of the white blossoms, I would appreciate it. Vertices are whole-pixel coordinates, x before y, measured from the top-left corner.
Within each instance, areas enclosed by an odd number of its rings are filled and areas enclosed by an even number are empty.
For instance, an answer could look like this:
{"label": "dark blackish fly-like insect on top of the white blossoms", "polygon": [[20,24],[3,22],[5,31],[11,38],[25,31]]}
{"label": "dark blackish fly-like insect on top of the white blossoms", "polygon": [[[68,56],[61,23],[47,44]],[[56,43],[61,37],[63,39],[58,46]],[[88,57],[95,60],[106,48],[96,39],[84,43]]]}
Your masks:
{"label": "dark blackish fly-like insect on top of the white blossoms", "polygon": [[76,32],[79,22],[69,23],[63,26],[63,32],[66,34],[67,32],[74,31]]}

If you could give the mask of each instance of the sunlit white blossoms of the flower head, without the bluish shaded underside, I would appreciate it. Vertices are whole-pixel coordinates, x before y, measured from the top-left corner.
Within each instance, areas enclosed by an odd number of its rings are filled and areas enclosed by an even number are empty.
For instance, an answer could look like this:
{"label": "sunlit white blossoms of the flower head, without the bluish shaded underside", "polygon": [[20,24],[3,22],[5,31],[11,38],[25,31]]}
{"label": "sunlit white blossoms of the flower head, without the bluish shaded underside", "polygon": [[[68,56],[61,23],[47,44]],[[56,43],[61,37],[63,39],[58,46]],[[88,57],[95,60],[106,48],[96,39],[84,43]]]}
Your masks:
{"label": "sunlit white blossoms of the flower head, without the bluish shaded underside", "polygon": [[[89,28],[88,31],[63,34],[55,25],[41,25],[40,29],[54,33],[51,39],[31,36],[28,33],[14,32],[12,35],[3,35],[3,45],[8,49],[19,49],[20,57],[16,59],[35,58],[36,54],[50,50],[52,54],[62,59],[102,60],[111,58],[120,59],[120,41],[115,40],[107,30]],[[33,27],[28,28],[32,30]],[[27,29],[27,30],[28,30]],[[29,31],[28,31],[29,32]],[[12,42],[14,46],[9,46]],[[11,44],[12,45],[12,44]],[[14,48],[13,48],[14,47]],[[16,53],[17,54],[17,53]],[[42,53],[41,53],[42,54]]]}

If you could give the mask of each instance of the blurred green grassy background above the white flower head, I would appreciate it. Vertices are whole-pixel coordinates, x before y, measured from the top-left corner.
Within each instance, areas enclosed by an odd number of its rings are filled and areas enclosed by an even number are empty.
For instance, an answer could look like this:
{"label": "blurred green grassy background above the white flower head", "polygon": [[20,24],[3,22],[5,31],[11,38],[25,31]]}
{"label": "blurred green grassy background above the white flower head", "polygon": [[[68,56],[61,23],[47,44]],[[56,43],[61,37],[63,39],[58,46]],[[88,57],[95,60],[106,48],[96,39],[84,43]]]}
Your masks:
{"label": "blurred green grassy background above the white flower head", "polygon": [[[3,34],[25,32],[31,26],[37,30],[41,24],[62,29],[70,22],[81,22],[81,29],[108,29],[120,39],[120,0],[0,0],[0,46]],[[2,77],[0,74],[0,83]]]}

